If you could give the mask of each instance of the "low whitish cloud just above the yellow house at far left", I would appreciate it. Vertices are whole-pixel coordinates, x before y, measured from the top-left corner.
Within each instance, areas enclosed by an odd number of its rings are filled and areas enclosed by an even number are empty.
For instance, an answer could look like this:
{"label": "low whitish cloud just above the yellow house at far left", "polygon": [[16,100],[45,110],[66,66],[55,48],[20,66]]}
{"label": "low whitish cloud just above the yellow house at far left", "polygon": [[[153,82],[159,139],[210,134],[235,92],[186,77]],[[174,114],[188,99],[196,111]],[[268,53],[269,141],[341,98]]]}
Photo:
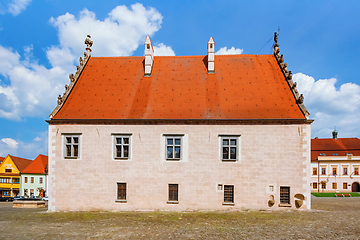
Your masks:
{"label": "low whitish cloud just above the yellow house at far left", "polygon": [[0,156],[5,157],[8,154],[34,159],[39,154],[47,155],[47,132],[41,132],[30,142],[23,142],[12,138],[3,138],[0,141]]}

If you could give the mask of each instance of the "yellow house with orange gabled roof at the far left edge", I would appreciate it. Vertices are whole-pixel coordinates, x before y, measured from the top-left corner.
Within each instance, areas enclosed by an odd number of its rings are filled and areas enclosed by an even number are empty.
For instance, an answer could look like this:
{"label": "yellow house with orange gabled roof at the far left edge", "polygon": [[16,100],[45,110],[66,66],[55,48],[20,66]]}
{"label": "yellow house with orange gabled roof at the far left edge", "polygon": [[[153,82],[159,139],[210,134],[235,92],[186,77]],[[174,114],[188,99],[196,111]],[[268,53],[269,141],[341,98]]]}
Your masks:
{"label": "yellow house with orange gabled roof at the far left edge", "polygon": [[0,165],[0,197],[15,197],[20,191],[20,174],[31,160],[7,155]]}

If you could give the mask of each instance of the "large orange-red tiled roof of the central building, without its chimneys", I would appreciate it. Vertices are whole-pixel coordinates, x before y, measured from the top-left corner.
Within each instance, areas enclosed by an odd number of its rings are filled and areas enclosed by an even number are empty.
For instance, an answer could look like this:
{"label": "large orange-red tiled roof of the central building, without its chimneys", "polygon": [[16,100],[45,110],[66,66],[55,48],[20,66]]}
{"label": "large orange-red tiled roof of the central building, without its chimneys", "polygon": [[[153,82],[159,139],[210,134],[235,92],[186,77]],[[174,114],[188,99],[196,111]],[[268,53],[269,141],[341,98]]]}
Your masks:
{"label": "large orange-red tiled roof of the central building, without its chimneys", "polygon": [[306,119],[273,55],[91,57],[52,119]]}

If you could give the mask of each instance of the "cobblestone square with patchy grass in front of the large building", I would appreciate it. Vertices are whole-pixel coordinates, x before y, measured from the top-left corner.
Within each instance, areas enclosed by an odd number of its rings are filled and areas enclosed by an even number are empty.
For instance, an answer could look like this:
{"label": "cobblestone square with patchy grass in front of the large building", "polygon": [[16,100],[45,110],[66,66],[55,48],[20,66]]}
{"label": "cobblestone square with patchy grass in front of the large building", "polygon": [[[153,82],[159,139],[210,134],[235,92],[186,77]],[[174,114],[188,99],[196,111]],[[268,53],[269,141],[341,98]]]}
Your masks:
{"label": "cobblestone square with patchy grass in front of the large building", "polygon": [[360,239],[360,198],[313,198],[311,211],[70,212],[0,203],[0,239]]}

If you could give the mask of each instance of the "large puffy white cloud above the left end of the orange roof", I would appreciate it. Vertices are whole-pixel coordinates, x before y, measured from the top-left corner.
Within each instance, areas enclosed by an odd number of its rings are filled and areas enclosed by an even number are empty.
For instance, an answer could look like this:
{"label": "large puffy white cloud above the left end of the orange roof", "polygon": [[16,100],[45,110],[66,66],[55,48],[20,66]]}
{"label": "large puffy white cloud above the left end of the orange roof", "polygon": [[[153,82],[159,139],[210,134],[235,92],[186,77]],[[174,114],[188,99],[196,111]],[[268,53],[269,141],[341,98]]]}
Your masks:
{"label": "large puffy white cloud above the left end of the orange roof", "polygon": [[162,18],[156,9],[136,3],[130,9],[117,6],[104,21],[84,9],[78,19],[66,13],[51,18],[50,23],[58,29],[61,49],[70,49],[76,56],[82,55],[89,32],[94,41],[93,56],[128,56],[144,43],[147,34],[160,29]]}

